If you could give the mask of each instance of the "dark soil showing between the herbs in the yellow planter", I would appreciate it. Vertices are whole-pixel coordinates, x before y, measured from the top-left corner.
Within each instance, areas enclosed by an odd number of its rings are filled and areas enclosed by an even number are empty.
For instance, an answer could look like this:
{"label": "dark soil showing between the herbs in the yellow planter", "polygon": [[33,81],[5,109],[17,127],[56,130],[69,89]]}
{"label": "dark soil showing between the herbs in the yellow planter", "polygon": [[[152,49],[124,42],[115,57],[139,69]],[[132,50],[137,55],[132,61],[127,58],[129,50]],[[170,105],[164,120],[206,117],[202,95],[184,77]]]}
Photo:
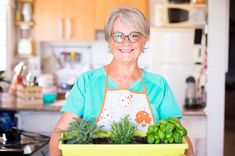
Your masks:
{"label": "dark soil showing between the herbs in the yellow planter", "polygon": [[[93,141],[94,144],[113,144],[110,138],[96,138]],[[132,144],[147,144],[146,137],[134,137],[134,141]]]}

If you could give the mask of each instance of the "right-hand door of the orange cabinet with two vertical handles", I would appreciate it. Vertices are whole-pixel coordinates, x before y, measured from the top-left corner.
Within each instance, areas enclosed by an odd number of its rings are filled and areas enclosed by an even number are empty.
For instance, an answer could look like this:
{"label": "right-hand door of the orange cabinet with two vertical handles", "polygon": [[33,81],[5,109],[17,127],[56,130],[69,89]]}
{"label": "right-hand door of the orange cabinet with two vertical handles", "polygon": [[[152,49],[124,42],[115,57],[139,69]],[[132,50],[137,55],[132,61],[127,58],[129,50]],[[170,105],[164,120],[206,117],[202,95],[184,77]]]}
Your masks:
{"label": "right-hand door of the orange cabinet with two vertical handles", "polygon": [[94,0],[64,0],[65,39],[95,39],[94,4]]}

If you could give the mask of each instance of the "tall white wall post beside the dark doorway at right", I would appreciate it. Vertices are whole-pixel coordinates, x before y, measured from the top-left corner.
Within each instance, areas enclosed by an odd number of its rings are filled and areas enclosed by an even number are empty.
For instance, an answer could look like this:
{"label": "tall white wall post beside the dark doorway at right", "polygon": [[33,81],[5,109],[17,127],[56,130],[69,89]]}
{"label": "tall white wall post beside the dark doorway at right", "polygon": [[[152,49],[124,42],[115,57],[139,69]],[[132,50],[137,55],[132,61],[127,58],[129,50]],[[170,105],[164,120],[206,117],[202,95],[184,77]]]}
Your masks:
{"label": "tall white wall post beside the dark doorway at right", "polygon": [[224,95],[229,0],[208,0],[207,156],[224,153]]}

